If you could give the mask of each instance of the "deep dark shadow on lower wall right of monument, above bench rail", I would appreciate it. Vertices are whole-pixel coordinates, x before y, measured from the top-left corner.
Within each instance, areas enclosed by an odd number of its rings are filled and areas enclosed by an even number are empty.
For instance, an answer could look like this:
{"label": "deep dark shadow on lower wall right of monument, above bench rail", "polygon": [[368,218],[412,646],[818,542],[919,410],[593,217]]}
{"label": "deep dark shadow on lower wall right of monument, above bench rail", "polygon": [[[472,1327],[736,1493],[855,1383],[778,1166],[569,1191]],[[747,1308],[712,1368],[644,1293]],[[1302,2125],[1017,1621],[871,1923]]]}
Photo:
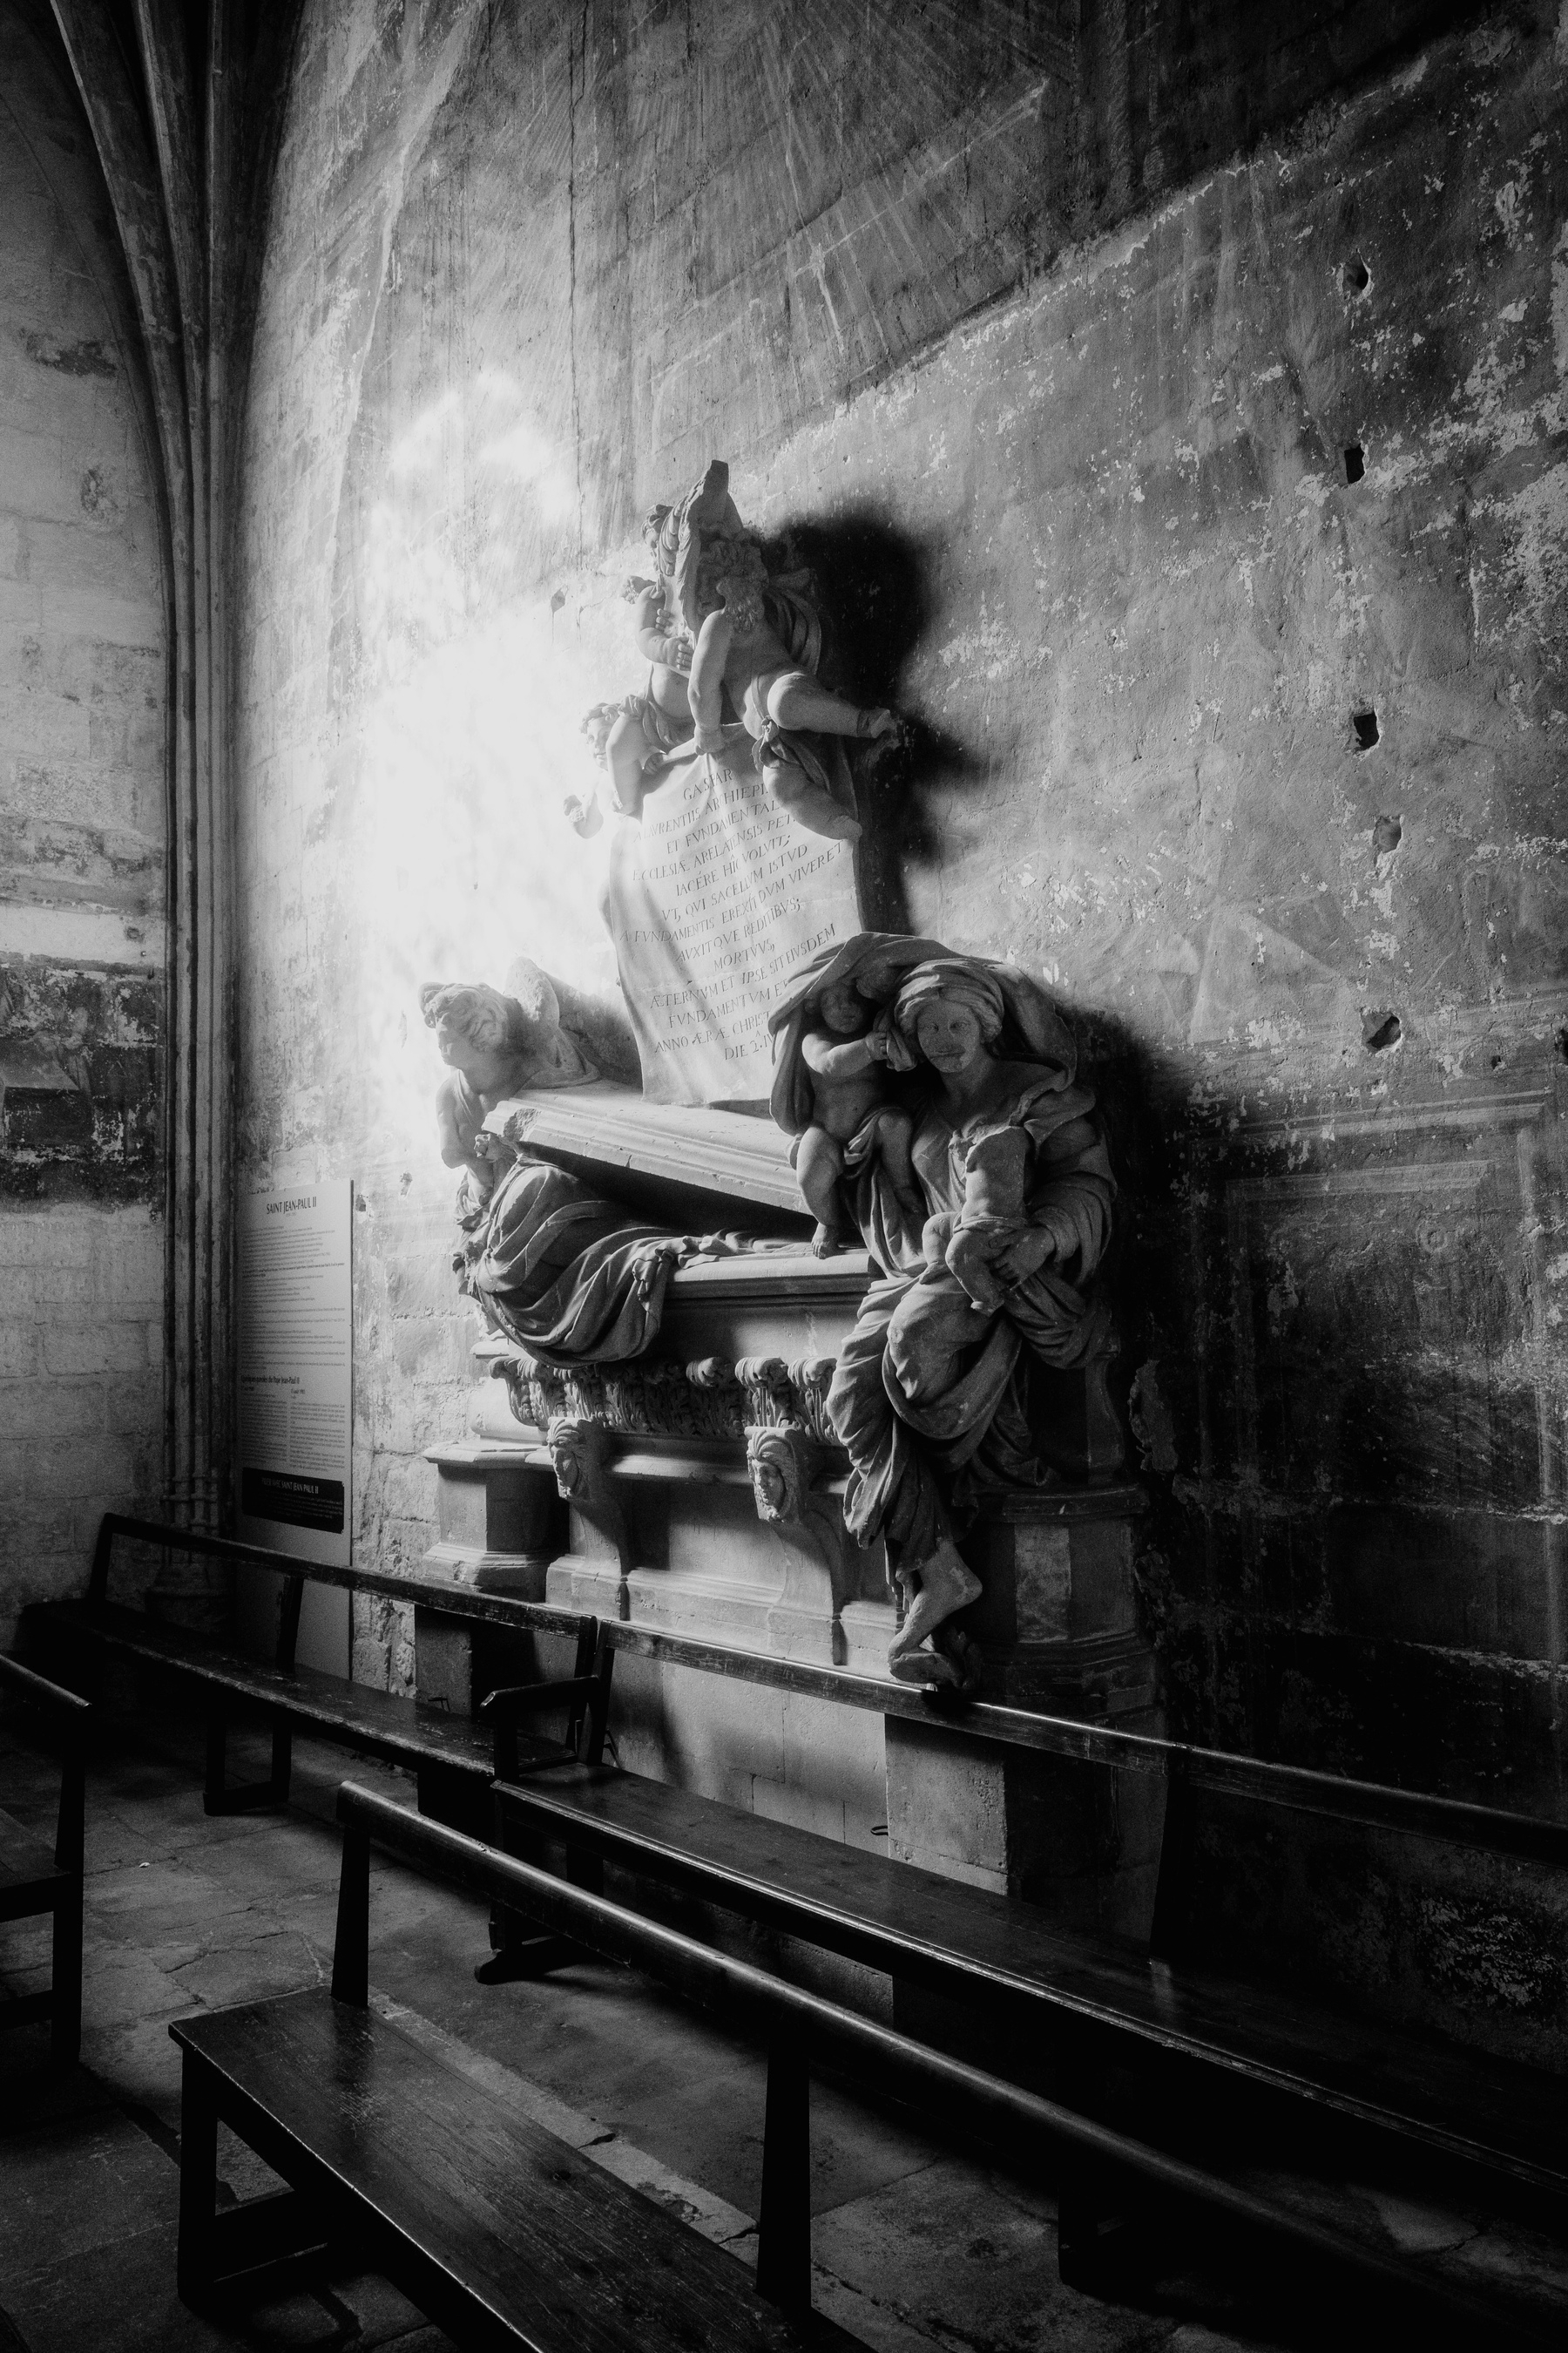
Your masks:
{"label": "deep dark shadow on lower wall right of monument, above bench rail", "polygon": [[1173,1737],[1561,1814],[1514,1136],[1481,1172],[1420,1082],[1335,1136],[1194,1099],[1114,1016],[1081,1016],[1079,1047],[1119,1181],[1112,1393]]}

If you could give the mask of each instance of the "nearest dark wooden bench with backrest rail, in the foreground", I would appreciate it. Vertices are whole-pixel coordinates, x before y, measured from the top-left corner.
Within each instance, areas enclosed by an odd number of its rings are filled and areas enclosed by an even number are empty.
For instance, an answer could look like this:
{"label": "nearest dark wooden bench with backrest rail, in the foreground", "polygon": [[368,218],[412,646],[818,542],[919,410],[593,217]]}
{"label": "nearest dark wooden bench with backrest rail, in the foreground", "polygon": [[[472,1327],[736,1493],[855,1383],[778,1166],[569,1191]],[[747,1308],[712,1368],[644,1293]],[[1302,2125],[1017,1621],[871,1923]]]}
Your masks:
{"label": "nearest dark wooden bench with backrest rail, in the foreground", "polygon": [[[717,2353],[844,2344],[811,2313],[813,2066],[912,2101],[976,2137],[990,2162],[1152,2202],[1234,2266],[1262,2257],[1281,2292],[1356,2294],[1366,2322],[1427,2344],[1542,2344],[1490,2301],[1361,2247],[1192,2165],[891,2033],[835,2002],[642,1920],[458,1831],[346,1784],[331,1991],[183,2019],[179,2287],[190,2304],[273,2289],[280,2266],[334,2254],[400,2285],[458,2344],[534,2353]],[[630,1962],[769,2052],[757,2285],[663,2207],[456,2075],[369,2007],[371,1842],[562,1939]],[[214,2212],[216,2127],[289,2184]]]}

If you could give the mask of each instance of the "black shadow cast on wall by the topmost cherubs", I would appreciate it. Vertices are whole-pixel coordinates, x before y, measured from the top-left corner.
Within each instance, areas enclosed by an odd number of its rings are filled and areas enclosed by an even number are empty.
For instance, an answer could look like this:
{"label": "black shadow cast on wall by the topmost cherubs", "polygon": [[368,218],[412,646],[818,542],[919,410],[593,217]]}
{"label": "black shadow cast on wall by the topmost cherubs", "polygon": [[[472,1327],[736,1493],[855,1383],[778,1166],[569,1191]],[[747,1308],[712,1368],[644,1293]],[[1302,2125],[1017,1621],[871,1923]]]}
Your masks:
{"label": "black shadow cast on wall by the topmost cherubs", "polygon": [[936,612],[936,548],[891,525],[875,506],[827,520],[785,522],[766,541],[771,572],[806,572],[823,616],[823,682],[858,704],[886,704],[896,739],[853,755],[860,842],[860,911],[875,932],[910,932],[905,875],[938,856],[931,800],[985,779],[1009,744],[985,753],[907,708],[905,682]]}

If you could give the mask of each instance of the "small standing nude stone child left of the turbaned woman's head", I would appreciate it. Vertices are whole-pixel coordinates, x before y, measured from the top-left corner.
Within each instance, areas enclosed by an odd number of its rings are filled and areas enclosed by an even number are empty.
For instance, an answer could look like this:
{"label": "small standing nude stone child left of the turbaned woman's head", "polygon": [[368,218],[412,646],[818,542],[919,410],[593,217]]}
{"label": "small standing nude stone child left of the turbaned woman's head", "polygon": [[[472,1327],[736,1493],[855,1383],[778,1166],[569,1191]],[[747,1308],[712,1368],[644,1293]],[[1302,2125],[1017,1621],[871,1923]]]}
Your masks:
{"label": "small standing nude stone child left of the turbaned woman's head", "polygon": [[839,1179],[882,1158],[893,1193],[919,1217],[922,1200],[910,1165],[907,1111],[886,1101],[886,1026],[849,981],[823,988],[816,1021],[799,1040],[811,1073],[811,1125],[795,1146],[799,1191],[816,1219],[811,1249],[830,1259],[844,1247]]}

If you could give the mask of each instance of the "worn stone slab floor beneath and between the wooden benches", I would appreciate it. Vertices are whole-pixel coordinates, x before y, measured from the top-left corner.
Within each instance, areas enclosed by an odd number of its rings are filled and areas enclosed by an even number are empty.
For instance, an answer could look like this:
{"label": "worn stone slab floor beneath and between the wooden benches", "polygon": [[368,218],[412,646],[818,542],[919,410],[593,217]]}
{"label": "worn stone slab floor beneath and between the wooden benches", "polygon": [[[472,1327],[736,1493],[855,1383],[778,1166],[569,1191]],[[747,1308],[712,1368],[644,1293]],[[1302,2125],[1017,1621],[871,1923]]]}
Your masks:
{"label": "worn stone slab floor beneath and between the wooden benches", "polygon": [[[235,1758],[240,1772],[244,1760]],[[447,2337],[383,2280],[331,2278],[214,2327],[174,2294],[179,2064],[169,2019],[315,1986],[331,1965],[343,1772],[414,1802],[411,1784],[339,1751],[296,1748],[282,1817],[207,1819],[200,1741],[162,1720],[89,1774],[82,2064],[47,2075],[45,2035],[0,2038],[0,2353],[186,2353],[400,2346]],[[261,1748],[254,1755],[263,1769]],[[237,1777],[237,1774],[235,1774]],[[52,1828],[56,1772],[7,1720],[0,1805]],[[764,2066],[661,1988],[609,1965],[482,1988],[484,1908],[381,1864],[376,2000],[501,2085],[543,2125],[668,2200],[750,2261]],[[45,1937],[0,1929],[0,1995],[45,1984]],[[273,2186],[223,2134],[235,2198]],[[1371,2188],[1269,2177],[1340,2228],[1495,2289],[1549,2329],[1568,2320],[1568,2249]],[[816,2304],[879,2353],[1227,2353],[1321,2344],[1267,2282],[1161,2278],[1133,2304],[1065,2289],[1051,2198],[954,2153],[900,2113],[813,2087]]]}

